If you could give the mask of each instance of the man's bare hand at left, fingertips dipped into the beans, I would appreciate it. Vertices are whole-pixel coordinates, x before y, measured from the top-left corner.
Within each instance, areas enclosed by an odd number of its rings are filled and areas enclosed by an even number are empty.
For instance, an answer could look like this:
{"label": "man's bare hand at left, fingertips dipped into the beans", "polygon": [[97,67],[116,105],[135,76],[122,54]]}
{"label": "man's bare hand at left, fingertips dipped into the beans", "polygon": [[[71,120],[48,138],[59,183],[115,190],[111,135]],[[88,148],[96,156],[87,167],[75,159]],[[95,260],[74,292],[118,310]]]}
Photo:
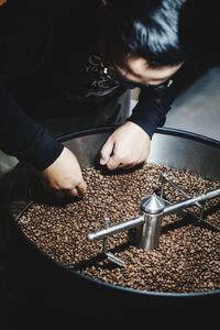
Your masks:
{"label": "man's bare hand at left, fingertips dipped into the beans", "polygon": [[86,194],[86,183],[76,156],[64,147],[59,157],[40,173],[46,189],[58,197],[74,197]]}

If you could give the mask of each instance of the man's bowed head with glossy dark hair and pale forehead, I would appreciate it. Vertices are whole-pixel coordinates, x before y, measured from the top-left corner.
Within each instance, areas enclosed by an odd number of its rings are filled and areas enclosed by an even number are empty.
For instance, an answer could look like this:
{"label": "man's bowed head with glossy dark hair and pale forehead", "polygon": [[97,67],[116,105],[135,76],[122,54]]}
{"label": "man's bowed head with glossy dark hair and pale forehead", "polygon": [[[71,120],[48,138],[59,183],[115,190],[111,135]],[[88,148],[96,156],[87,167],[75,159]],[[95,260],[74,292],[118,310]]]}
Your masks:
{"label": "man's bowed head with glossy dark hair and pale forehead", "polygon": [[183,0],[109,0],[101,19],[105,65],[125,79],[160,85],[184,62],[179,44]]}

